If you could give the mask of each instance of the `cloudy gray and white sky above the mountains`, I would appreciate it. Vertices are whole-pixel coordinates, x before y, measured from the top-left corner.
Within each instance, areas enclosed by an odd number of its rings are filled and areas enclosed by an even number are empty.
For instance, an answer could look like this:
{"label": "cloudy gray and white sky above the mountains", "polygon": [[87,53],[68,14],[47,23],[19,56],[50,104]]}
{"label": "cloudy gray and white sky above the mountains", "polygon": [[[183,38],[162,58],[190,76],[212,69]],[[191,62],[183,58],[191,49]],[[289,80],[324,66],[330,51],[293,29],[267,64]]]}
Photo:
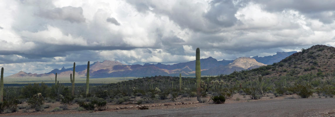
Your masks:
{"label": "cloudy gray and white sky above the mountains", "polygon": [[234,60],[335,46],[334,0],[0,0],[0,67]]}

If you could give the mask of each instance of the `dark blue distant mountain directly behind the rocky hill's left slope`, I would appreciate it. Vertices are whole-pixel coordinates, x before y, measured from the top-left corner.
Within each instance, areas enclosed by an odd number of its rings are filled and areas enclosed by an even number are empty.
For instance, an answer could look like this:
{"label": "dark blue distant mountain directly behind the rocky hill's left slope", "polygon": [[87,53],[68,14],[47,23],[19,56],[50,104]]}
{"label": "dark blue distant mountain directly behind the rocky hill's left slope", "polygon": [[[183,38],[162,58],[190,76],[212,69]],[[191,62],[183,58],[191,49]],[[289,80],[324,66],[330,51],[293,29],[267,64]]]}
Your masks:
{"label": "dark blue distant mountain directly behind the rocky hill's left slope", "polygon": [[280,62],[284,58],[286,58],[289,55],[292,55],[293,53],[296,53],[297,51],[290,51],[290,52],[277,52],[277,54],[274,55],[269,55],[269,56],[264,56],[264,57],[258,57],[254,56],[251,58],[254,58],[257,62],[263,63],[266,65],[271,65],[273,63]]}

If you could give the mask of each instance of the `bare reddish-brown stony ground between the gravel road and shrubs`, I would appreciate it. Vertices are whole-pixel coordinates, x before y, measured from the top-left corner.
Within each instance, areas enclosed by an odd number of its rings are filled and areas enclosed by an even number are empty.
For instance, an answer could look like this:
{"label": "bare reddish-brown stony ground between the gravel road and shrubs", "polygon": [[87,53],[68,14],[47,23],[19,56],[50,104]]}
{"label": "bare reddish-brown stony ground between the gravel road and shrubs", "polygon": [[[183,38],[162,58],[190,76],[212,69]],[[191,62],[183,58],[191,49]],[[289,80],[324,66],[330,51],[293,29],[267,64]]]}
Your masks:
{"label": "bare reddish-brown stony ground between the gravel road and shrubs", "polygon": [[[282,97],[275,97],[273,94],[265,94],[264,97],[261,97],[261,99],[258,100],[251,100],[250,97],[235,94],[232,97],[226,99],[225,104],[230,103],[243,103],[243,102],[254,102],[254,101],[265,101],[265,100],[286,100],[286,99],[296,99],[299,98],[296,94],[293,95],[284,95]],[[310,98],[325,98],[317,96],[317,94],[313,94]],[[46,105],[50,105],[49,108],[46,108],[44,111],[34,111],[32,109],[25,110],[20,109],[18,112],[14,113],[6,113],[6,114],[0,114],[1,116],[4,115],[47,115],[47,114],[81,114],[81,113],[96,113],[96,112],[122,112],[126,110],[138,110],[139,106],[145,106],[148,107],[148,109],[174,109],[174,108],[190,108],[190,107],[202,107],[202,106],[210,106],[214,105],[211,100],[209,100],[209,97],[202,98],[202,100],[206,100],[205,103],[198,103],[196,97],[193,98],[187,98],[187,97],[179,97],[176,101],[171,101],[171,99],[166,100],[157,100],[153,103],[144,103],[137,105],[136,101],[139,100],[140,97],[136,97],[131,99],[128,102],[124,102],[123,104],[114,104],[114,103],[108,103],[107,109],[104,111],[77,111],[76,108],[78,108],[77,104],[70,105],[68,108],[69,110],[63,110],[59,112],[52,112],[55,107],[61,106],[59,102],[56,103],[45,103]],[[209,100],[209,102],[208,102]],[[132,103],[135,102],[135,103]],[[19,106],[26,106],[27,104],[19,104]],[[333,110],[327,110],[327,111],[318,111],[313,112],[310,115],[313,116],[321,116],[321,115],[334,115],[335,109]]]}

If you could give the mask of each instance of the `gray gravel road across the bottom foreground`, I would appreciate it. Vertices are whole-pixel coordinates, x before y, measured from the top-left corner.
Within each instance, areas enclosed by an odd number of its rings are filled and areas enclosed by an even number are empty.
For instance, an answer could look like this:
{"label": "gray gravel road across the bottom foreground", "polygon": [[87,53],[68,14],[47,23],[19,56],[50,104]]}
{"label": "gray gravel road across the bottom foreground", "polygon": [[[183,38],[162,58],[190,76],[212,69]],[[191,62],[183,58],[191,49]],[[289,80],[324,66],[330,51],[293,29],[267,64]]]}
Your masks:
{"label": "gray gravel road across the bottom foreground", "polygon": [[[322,116],[320,112],[334,110],[335,98],[314,98],[213,104],[204,107],[180,109],[149,109],[65,115],[25,115],[25,117],[308,117]],[[334,114],[325,116],[334,116]]]}

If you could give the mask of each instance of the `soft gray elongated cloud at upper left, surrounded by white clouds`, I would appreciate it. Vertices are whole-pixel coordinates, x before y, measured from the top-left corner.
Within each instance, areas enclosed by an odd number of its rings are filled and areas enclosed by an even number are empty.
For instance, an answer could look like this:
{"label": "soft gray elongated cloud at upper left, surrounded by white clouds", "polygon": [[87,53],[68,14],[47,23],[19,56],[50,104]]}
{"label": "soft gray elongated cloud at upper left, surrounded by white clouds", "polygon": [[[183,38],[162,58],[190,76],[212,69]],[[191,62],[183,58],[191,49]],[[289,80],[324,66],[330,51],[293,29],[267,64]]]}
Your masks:
{"label": "soft gray elongated cloud at upper left, surrounded by white clouds", "polygon": [[81,7],[67,6],[54,9],[41,9],[37,15],[49,19],[61,19],[77,23],[85,22]]}

